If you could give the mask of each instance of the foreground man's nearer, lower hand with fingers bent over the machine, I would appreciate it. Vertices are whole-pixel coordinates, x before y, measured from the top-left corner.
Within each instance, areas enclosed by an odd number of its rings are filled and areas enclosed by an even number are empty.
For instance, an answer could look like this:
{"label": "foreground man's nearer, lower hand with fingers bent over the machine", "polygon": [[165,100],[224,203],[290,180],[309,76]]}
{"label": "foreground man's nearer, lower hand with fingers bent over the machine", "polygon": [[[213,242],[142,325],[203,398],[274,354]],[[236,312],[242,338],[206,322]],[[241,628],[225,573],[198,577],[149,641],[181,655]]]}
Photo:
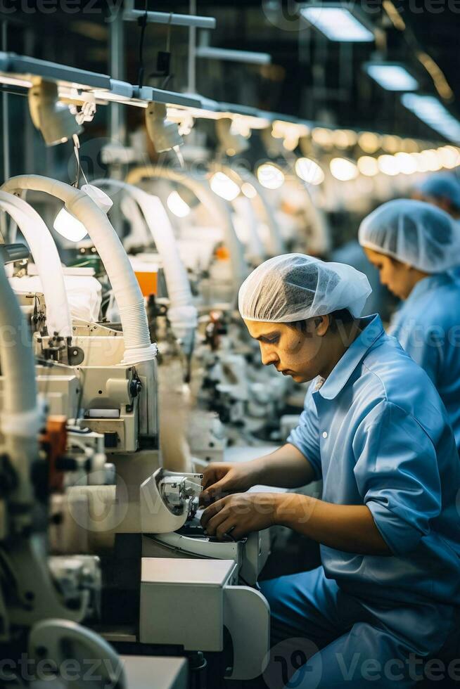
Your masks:
{"label": "foreground man's nearer, lower hand with fingers bent over the machine", "polygon": [[267,529],[275,523],[277,493],[242,493],[229,495],[205,509],[201,525],[208,536],[238,541],[253,531]]}

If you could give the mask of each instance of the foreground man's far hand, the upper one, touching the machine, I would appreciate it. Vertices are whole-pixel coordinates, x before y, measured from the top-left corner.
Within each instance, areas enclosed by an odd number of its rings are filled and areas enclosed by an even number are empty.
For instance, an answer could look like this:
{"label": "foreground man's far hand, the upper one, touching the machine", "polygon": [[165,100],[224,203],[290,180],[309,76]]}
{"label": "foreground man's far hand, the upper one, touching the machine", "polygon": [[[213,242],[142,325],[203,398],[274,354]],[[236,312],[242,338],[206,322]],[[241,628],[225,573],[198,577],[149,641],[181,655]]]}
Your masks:
{"label": "foreground man's far hand, the upper one, touching the machine", "polygon": [[203,472],[200,504],[207,505],[229,493],[242,493],[255,485],[249,462],[216,462]]}

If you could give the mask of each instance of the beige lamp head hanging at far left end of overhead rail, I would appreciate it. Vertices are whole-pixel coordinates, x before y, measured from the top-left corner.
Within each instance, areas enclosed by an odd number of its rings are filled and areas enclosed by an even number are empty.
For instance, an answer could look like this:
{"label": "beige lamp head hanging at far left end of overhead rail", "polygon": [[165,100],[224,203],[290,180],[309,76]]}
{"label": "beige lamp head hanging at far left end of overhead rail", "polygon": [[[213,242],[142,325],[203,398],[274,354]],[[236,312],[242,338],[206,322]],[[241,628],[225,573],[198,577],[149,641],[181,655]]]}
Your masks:
{"label": "beige lamp head hanging at far left end of overhead rail", "polygon": [[46,146],[64,143],[83,128],[77,124],[69,106],[59,102],[58,86],[41,79],[32,84],[28,93],[30,117],[34,127],[41,131]]}

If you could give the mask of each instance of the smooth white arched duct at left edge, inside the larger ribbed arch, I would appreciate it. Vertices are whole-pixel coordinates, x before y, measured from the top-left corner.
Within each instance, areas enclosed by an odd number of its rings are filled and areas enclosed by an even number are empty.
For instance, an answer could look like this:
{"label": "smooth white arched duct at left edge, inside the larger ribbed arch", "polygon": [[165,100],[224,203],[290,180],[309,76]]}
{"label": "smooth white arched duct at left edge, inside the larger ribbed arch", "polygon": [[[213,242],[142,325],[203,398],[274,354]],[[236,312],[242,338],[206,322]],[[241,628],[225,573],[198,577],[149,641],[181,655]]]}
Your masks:
{"label": "smooth white arched duct at left edge, inside the larger ribbed arch", "polygon": [[23,233],[37,266],[46,302],[49,335],[72,336],[72,319],[63,270],[56,244],[49,229],[31,205],[6,191],[0,191],[0,208],[11,215]]}

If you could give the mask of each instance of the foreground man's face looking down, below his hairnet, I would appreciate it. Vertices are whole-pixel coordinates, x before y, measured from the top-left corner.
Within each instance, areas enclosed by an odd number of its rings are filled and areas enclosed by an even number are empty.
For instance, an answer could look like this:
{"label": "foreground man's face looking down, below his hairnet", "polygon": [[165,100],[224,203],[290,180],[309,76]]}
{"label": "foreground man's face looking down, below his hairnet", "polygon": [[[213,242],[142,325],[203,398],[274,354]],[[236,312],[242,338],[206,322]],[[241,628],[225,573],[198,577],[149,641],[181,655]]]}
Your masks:
{"label": "foreground man's face looking down, below his hairnet", "polygon": [[245,321],[250,336],[259,341],[264,366],[275,366],[276,371],[290,375],[295,382],[313,380],[324,369],[324,335],[329,323],[328,316],[310,318],[302,331],[285,323]]}

